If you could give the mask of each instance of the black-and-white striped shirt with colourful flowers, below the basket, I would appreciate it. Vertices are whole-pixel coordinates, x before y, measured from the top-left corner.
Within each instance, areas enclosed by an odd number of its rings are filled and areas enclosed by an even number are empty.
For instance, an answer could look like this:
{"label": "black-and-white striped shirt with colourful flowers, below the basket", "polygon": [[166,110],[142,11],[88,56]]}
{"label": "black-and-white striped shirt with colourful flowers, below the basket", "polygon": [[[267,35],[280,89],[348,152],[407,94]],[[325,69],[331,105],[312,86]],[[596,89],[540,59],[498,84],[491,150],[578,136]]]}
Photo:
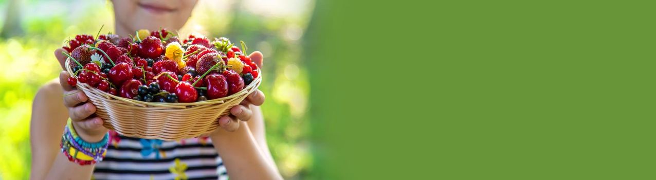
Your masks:
{"label": "black-and-white striped shirt with colourful flowers, below the basket", "polygon": [[207,137],[161,141],[110,135],[107,154],[92,179],[228,179]]}

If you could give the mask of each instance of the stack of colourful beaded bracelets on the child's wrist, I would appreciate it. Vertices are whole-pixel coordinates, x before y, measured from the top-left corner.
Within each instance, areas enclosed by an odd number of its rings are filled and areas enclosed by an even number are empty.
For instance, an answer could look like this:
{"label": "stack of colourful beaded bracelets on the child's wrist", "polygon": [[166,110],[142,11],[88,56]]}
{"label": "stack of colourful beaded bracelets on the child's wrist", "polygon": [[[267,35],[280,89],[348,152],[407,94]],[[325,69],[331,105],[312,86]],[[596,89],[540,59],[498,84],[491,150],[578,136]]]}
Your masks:
{"label": "stack of colourful beaded bracelets on the child's wrist", "polygon": [[60,148],[71,162],[82,166],[96,164],[96,162],[102,161],[105,154],[107,154],[108,139],[109,133],[106,133],[98,143],[84,141],[77,135],[72,121],[68,119],[64,128],[64,135],[62,135]]}

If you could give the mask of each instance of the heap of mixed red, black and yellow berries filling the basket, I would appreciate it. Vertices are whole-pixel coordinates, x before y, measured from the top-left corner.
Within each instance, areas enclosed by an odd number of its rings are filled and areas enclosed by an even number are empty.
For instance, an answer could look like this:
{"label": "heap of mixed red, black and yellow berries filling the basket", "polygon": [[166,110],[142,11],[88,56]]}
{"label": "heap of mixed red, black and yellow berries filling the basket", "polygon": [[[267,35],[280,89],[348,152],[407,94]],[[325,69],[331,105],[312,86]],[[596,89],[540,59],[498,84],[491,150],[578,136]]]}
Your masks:
{"label": "heap of mixed red, black and yellow berries filling the basket", "polygon": [[[196,102],[237,93],[259,76],[258,66],[243,52],[243,41],[242,50],[225,37],[210,42],[189,35],[180,44],[166,29],[135,34],[77,35],[66,49],[76,75],[68,83],[87,83],[137,101]],[[77,37],[85,43],[73,43],[80,41]]]}

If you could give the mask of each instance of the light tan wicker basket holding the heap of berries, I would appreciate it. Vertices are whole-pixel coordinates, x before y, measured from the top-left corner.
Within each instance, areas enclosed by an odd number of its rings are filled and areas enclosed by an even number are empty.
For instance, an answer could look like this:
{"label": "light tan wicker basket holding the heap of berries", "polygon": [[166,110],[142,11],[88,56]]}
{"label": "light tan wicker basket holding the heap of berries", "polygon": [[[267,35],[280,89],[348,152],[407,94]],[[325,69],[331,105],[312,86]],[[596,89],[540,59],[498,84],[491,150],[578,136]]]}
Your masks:
{"label": "light tan wicker basket holding the heap of berries", "polygon": [[[66,59],[66,64],[69,63],[70,58]],[[66,71],[75,76],[70,66],[66,66]],[[135,101],[100,91],[86,83],[78,82],[76,87],[96,106],[96,116],[104,120],[108,129],[128,137],[173,141],[214,131],[218,127],[217,119],[230,114],[230,108],[253,93],[260,81],[261,75],[228,97],[187,103]]]}

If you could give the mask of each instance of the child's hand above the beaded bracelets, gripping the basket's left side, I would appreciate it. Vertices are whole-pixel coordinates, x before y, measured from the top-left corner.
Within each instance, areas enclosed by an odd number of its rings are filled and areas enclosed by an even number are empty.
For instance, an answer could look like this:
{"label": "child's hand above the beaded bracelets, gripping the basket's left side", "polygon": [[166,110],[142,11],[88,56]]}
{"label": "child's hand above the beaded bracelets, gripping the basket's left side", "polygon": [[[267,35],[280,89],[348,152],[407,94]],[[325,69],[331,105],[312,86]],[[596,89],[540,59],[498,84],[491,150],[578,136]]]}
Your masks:
{"label": "child's hand above the beaded bracelets, gripping the basket's left side", "polygon": [[[54,55],[63,68],[66,56],[62,55],[62,52],[64,49],[57,49]],[[64,89],[64,106],[68,108],[68,116],[73,121],[73,127],[85,141],[98,142],[102,140],[108,129],[102,126],[102,119],[91,116],[96,112],[96,106],[87,102],[89,98],[82,91],[68,85],[68,77],[70,77],[68,72],[62,71],[59,74],[59,83]]]}

